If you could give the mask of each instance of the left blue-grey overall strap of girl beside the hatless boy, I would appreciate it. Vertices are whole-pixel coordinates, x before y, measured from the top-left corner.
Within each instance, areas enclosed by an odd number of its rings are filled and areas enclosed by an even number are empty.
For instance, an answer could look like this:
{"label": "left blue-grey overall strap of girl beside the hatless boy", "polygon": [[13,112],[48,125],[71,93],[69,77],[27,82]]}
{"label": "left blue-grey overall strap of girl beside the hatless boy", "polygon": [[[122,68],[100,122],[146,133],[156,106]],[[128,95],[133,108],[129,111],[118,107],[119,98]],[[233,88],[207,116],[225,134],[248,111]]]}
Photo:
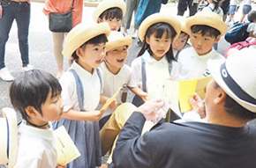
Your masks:
{"label": "left blue-grey overall strap of girl beside the hatless boy", "polygon": [[77,94],[79,99],[79,109],[80,111],[85,111],[84,110],[84,88],[83,88],[82,81],[74,69],[70,69],[69,71],[73,74],[76,81]]}

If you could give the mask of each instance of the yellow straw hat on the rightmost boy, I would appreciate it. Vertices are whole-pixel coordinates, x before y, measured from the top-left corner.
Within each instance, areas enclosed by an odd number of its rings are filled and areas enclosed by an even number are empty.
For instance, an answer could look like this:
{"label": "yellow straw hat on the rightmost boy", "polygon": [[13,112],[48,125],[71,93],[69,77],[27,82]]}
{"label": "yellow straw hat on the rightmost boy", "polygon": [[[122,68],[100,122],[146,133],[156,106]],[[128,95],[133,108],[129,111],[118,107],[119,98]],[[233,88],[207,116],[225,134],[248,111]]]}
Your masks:
{"label": "yellow straw hat on the rightmost boy", "polygon": [[192,26],[211,26],[220,31],[221,36],[228,32],[229,27],[220,15],[213,11],[200,11],[186,19],[186,27],[191,32]]}

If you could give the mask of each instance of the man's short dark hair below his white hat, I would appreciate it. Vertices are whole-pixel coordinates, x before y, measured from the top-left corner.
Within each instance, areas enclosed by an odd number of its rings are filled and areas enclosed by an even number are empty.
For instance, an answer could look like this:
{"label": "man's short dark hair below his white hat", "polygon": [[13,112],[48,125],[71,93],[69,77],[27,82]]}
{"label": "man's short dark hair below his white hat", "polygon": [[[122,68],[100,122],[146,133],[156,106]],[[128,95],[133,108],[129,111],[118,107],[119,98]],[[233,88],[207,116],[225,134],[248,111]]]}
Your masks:
{"label": "man's short dark hair below his white hat", "polygon": [[[220,87],[219,84],[215,82],[215,89]],[[247,110],[244,106],[241,106],[235,101],[234,99],[230,98],[227,94],[224,107],[227,113],[230,116],[233,116],[241,121],[252,121],[256,118],[256,113],[252,113],[251,111]]]}

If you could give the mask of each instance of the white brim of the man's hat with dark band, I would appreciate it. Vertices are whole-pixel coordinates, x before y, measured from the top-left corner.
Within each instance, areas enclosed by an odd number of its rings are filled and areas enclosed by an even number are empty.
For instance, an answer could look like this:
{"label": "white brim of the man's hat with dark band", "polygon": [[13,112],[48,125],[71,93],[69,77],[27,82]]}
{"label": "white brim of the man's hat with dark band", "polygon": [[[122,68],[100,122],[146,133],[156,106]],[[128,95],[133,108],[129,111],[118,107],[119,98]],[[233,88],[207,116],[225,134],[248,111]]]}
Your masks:
{"label": "white brim of the man's hat with dark band", "polygon": [[[225,61],[225,60],[224,60]],[[233,91],[230,90],[227,84],[222,80],[221,65],[224,61],[220,60],[209,60],[207,62],[208,69],[210,70],[211,76],[215,79],[215,82],[220,85],[223,91],[225,91],[231,99],[234,99],[239,105],[244,106],[247,110],[252,113],[256,113],[256,105],[248,103],[243,99],[239,99]]]}

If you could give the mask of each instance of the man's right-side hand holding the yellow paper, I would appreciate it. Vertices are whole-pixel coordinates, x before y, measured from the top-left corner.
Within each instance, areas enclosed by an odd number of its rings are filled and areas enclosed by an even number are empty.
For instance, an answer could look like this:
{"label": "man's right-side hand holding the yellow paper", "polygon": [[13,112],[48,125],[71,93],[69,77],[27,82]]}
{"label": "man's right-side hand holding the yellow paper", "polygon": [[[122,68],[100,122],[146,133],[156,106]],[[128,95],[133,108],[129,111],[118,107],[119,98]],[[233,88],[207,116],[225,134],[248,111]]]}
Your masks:
{"label": "man's right-side hand holding the yellow paper", "polygon": [[192,105],[192,111],[199,113],[200,118],[204,119],[206,117],[205,104],[200,96],[195,92],[193,97],[190,97],[189,102]]}

